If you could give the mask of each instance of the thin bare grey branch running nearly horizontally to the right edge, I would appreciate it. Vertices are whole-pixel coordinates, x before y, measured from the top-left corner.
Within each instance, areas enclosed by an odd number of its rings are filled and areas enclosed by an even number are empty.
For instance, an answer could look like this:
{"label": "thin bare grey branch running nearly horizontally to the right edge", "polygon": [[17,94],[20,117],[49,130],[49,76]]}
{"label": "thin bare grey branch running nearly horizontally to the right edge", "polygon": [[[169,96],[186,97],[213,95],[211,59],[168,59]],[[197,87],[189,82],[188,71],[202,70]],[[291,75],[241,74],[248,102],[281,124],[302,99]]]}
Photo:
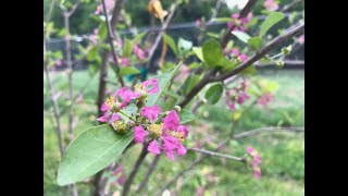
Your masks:
{"label": "thin bare grey branch running nearly horizontally to the right edge", "polygon": [[248,132],[244,132],[241,134],[237,134],[234,136],[235,139],[240,139],[253,135],[258,135],[261,133],[272,133],[272,132],[304,132],[304,127],[262,127]]}

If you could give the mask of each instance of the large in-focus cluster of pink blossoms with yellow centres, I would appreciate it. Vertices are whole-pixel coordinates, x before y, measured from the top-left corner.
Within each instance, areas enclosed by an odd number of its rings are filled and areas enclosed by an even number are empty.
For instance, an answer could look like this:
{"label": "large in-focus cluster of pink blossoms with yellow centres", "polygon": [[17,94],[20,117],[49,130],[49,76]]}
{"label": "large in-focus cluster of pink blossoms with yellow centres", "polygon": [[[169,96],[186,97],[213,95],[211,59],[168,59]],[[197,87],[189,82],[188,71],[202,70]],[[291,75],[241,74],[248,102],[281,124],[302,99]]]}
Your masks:
{"label": "large in-focus cluster of pink blossoms with yellow centres", "polygon": [[[109,122],[116,132],[124,133],[134,127],[134,139],[136,143],[146,143],[147,149],[152,154],[161,154],[161,150],[174,160],[174,155],[183,156],[186,148],[183,142],[188,135],[188,127],[179,124],[179,118],[175,110],[159,118],[161,109],[154,105],[146,107],[145,101],[149,94],[159,93],[158,78],[145,81],[135,85],[135,90],[122,87],[109,97],[101,106],[103,115],[97,119],[100,122]],[[121,110],[126,108],[130,101],[135,101],[139,113],[128,117],[126,123],[117,113],[124,114]]]}

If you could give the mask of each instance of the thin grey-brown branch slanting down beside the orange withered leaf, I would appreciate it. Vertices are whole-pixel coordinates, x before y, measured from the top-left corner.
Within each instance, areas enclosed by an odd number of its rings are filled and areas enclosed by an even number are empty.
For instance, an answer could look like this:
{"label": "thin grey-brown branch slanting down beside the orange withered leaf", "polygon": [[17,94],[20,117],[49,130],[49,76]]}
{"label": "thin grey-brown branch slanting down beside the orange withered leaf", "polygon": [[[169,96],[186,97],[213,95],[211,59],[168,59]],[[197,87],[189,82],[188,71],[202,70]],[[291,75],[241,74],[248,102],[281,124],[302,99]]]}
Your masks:
{"label": "thin grey-brown branch slanting down beside the orange withered leaf", "polygon": [[156,51],[157,47],[159,46],[160,40],[162,39],[162,36],[163,36],[165,29],[167,28],[167,25],[170,24],[173,15],[174,15],[174,12],[175,12],[176,7],[177,7],[177,2],[176,2],[176,0],[175,0],[175,1],[173,2],[173,4],[171,5],[170,14],[166,16],[166,19],[165,19],[165,21],[164,21],[164,23],[163,23],[163,25],[162,25],[159,34],[157,35],[157,37],[156,37],[156,39],[154,39],[154,42],[152,44],[151,48],[149,49],[149,56],[148,56],[148,59],[147,59],[147,60],[148,60],[148,63],[147,63],[146,68],[149,68],[149,66],[150,66],[152,57],[153,57],[153,54],[154,54],[154,51]]}

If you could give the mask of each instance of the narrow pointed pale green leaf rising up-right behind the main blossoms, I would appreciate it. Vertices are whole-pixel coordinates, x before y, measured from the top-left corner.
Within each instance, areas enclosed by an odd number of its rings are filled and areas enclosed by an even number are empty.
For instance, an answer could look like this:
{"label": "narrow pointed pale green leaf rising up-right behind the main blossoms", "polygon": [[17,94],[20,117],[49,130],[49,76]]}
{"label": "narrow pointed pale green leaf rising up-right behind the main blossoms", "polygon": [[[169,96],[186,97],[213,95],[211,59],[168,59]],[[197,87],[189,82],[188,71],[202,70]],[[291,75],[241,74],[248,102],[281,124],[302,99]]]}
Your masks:
{"label": "narrow pointed pale green leaf rising up-right behind the main blossoms", "polygon": [[161,95],[163,94],[164,89],[167,88],[167,86],[170,85],[172,78],[174,77],[174,75],[176,74],[178,68],[182,65],[182,63],[179,63],[178,65],[176,65],[175,69],[173,69],[172,71],[162,74],[162,75],[158,75],[154,78],[159,78],[159,93],[157,94],[150,94],[147,98],[147,102],[146,106],[148,107],[152,107],[153,105],[157,103],[157,101],[159,100],[159,98],[161,97]]}

